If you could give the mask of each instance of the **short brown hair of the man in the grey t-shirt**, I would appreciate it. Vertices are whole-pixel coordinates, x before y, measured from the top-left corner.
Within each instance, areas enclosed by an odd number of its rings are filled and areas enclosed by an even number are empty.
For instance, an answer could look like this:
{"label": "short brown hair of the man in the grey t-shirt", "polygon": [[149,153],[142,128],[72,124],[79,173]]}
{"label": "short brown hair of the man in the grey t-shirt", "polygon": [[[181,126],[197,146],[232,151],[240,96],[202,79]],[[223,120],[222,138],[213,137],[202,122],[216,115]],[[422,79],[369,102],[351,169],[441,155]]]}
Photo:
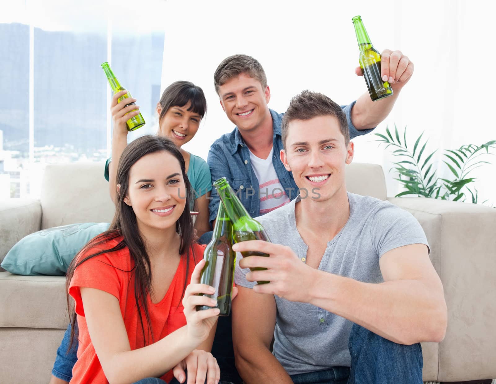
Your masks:
{"label": "short brown hair of the man in the grey t-shirt", "polygon": [[291,99],[288,110],[284,114],[281,123],[282,144],[286,149],[286,139],[288,138],[288,125],[293,120],[310,120],[318,116],[336,116],[339,128],[344,136],[345,145],[350,142],[350,132],[346,115],[341,107],[329,97],[318,93],[310,92],[308,89]]}

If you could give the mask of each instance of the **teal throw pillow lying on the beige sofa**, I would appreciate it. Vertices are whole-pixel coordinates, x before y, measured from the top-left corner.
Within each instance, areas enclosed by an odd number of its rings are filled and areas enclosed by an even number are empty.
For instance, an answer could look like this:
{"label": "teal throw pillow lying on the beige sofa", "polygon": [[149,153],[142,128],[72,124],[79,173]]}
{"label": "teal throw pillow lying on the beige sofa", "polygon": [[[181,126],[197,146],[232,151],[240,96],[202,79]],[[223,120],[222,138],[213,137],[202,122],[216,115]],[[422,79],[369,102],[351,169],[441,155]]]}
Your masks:
{"label": "teal throw pillow lying on the beige sofa", "polygon": [[1,267],[17,275],[64,275],[74,256],[109,226],[69,224],[32,233],[8,251]]}

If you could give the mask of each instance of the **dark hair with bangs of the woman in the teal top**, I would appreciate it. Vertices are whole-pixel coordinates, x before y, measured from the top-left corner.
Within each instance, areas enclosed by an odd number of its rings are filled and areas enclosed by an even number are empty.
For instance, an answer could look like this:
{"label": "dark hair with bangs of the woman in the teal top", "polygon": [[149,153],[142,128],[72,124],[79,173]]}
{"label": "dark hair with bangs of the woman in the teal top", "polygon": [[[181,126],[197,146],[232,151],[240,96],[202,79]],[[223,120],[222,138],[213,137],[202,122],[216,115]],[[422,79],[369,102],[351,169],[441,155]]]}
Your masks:
{"label": "dark hair with bangs of the woman in the teal top", "polygon": [[174,106],[184,107],[187,103],[191,103],[187,110],[197,113],[201,118],[207,112],[207,99],[205,99],[203,90],[191,81],[180,80],[173,82],[164,90],[159,103],[162,108],[158,118],[159,121],[162,120],[169,108]]}

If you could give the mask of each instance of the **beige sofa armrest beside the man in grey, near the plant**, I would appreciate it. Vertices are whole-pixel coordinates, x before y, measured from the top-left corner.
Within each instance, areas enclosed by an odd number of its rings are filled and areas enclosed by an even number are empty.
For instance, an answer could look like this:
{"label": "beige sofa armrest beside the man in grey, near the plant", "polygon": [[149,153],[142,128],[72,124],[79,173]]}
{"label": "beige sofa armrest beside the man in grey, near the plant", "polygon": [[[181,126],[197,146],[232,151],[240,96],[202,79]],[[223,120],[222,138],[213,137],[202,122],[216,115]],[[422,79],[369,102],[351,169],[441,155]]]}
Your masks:
{"label": "beige sofa armrest beside the man in grey, near the plant", "polygon": [[439,382],[496,378],[496,209],[423,197],[389,197],[420,222],[448,307]]}

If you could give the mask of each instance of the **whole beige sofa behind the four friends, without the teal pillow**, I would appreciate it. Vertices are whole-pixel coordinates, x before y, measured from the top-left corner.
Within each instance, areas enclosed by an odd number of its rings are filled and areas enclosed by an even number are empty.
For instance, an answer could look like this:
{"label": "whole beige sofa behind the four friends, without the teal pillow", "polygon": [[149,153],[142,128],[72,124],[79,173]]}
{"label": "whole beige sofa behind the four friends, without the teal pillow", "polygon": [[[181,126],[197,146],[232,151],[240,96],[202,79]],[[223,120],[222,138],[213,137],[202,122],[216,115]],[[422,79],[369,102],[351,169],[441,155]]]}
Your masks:
{"label": "whole beige sofa behind the four friends, without the teal pillow", "polygon": [[[382,168],[352,164],[348,190],[386,199]],[[387,198],[410,211],[431,245],[444,285],[448,328],[423,343],[424,380],[496,378],[496,209],[426,198]],[[103,163],[47,166],[40,200],[0,202],[0,260],[44,228],[110,222],[114,207]],[[0,383],[48,383],[68,319],[64,277],[0,272]]]}

